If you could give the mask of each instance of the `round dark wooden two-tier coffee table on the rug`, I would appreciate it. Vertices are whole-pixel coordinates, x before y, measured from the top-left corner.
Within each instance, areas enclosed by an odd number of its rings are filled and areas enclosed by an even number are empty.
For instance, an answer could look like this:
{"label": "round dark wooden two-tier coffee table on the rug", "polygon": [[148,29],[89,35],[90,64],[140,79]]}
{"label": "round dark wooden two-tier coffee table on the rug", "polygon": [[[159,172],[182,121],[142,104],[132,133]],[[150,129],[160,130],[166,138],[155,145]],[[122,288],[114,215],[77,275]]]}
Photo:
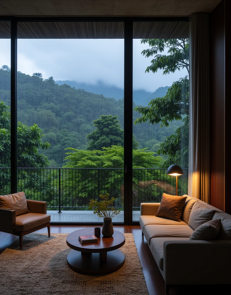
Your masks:
{"label": "round dark wooden two-tier coffee table on the rug", "polygon": [[125,244],[125,236],[114,230],[112,237],[101,236],[98,243],[82,244],[79,236],[94,235],[94,228],[76,230],[67,236],[67,245],[73,250],[67,255],[67,263],[73,271],[102,274],[117,271],[124,264],[124,253],[118,248]]}

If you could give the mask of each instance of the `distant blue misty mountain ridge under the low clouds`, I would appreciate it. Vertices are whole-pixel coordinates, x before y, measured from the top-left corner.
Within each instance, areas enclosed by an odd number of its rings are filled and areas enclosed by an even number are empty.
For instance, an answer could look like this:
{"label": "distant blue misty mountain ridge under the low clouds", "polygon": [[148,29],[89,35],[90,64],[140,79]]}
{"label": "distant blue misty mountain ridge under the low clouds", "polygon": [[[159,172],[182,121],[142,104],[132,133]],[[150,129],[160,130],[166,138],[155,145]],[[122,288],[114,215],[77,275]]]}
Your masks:
{"label": "distant blue misty mountain ridge under the low clouds", "polygon": [[[98,81],[97,84],[81,83],[77,81],[55,81],[58,85],[67,84],[76,89],[84,89],[88,92],[93,92],[95,94],[103,94],[105,97],[114,98],[116,100],[122,99],[124,97],[124,89],[113,85],[107,85],[102,81]],[[133,91],[133,101],[137,105],[147,106],[151,99],[156,97],[162,97],[166,94],[169,86],[159,87],[154,93],[146,91],[144,89],[138,89]]]}

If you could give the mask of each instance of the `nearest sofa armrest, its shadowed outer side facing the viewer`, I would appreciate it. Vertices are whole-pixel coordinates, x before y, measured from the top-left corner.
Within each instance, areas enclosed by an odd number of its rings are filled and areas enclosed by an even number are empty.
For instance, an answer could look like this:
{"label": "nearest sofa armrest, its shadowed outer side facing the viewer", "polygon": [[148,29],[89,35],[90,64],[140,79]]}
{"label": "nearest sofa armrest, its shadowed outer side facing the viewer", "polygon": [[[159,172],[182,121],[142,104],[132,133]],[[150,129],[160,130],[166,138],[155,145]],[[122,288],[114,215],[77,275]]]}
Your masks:
{"label": "nearest sofa armrest, its shadowed outer side facing the viewer", "polygon": [[231,241],[165,241],[167,285],[230,284]]}

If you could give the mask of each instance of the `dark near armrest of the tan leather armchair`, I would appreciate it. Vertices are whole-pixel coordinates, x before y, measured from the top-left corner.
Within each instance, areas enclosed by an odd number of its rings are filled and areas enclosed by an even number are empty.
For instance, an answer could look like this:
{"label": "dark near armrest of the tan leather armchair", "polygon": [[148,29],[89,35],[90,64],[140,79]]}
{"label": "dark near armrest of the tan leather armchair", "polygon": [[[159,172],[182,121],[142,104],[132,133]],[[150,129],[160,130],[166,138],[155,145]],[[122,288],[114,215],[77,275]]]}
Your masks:
{"label": "dark near armrest of the tan leather armchair", "polygon": [[12,234],[16,222],[16,211],[0,208],[0,232]]}

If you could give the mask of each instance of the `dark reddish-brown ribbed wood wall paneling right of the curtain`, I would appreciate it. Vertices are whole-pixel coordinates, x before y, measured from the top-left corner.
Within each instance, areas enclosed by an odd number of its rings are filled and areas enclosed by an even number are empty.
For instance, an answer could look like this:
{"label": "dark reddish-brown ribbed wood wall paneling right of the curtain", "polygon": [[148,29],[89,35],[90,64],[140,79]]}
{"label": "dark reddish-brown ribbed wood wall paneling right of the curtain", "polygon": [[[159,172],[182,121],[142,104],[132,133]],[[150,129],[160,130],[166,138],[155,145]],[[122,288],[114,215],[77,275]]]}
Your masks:
{"label": "dark reddish-brown ribbed wood wall paneling right of the curtain", "polygon": [[210,15],[211,181],[210,204],[231,214],[230,21],[231,1]]}

